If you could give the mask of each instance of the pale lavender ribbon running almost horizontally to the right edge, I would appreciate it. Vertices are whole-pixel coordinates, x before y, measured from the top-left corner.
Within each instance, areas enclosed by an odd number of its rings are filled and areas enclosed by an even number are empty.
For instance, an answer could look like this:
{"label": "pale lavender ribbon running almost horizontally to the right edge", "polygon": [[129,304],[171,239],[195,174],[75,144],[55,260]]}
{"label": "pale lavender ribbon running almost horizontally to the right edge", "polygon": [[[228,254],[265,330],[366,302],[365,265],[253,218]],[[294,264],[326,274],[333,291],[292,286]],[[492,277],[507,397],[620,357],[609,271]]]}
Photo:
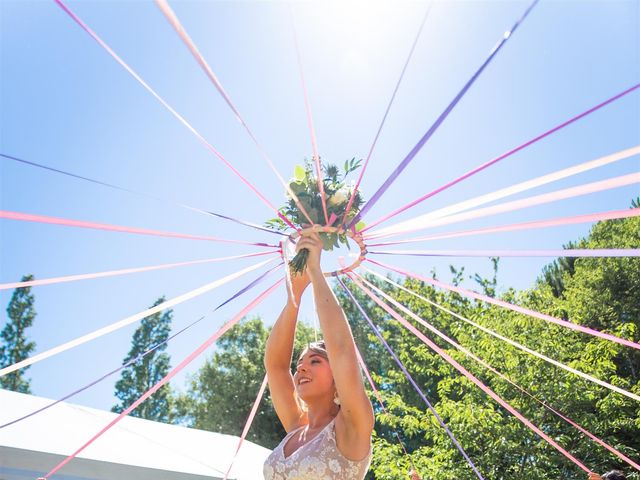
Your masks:
{"label": "pale lavender ribbon running almost horizontally to the right edge", "polygon": [[412,257],[640,257],[638,248],[567,248],[562,250],[387,250],[375,255]]}

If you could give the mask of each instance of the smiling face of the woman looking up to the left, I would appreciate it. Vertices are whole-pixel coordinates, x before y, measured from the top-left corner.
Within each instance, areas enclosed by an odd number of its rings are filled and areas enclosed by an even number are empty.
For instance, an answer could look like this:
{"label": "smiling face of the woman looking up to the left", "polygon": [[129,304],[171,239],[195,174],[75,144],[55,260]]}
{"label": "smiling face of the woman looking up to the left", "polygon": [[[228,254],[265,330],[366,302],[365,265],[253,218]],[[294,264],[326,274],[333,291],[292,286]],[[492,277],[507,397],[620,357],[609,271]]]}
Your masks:
{"label": "smiling face of the woman looking up to the left", "polygon": [[336,390],[326,352],[313,346],[307,347],[298,359],[293,381],[296,393],[306,403],[332,401]]}

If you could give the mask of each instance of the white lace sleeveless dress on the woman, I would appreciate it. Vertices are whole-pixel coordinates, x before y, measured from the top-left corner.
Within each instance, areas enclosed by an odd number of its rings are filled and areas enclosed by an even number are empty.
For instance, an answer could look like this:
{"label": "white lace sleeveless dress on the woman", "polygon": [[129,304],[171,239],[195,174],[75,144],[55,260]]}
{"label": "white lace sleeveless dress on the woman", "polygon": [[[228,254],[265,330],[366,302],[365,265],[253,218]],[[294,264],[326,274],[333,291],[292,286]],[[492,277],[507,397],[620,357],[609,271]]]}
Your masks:
{"label": "white lace sleeveless dress on the woman", "polygon": [[371,463],[369,453],[360,461],[346,458],[336,445],[335,418],[313,439],[290,456],[284,446],[300,429],[291,431],[264,463],[265,480],[363,480]]}

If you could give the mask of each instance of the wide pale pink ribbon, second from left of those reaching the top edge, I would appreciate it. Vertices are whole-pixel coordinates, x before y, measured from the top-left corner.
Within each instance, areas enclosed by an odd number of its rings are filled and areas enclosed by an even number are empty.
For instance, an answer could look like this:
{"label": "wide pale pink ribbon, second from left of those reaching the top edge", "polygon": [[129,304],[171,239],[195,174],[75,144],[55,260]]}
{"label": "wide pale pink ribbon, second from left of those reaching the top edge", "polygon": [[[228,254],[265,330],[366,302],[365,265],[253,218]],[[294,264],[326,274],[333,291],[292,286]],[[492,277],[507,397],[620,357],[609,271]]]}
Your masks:
{"label": "wide pale pink ribbon, second from left of those reaching the top edge", "polygon": [[231,101],[231,98],[229,97],[227,92],[222,87],[222,84],[220,83],[220,80],[218,80],[218,77],[216,77],[216,74],[213,73],[213,70],[211,69],[211,67],[209,66],[207,61],[204,59],[202,54],[198,51],[198,47],[196,47],[195,43],[193,42],[193,40],[191,39],[189,34],[186,32],[186,30],[184,29],[184,27],[180,23],[180,20],[178,20],[178,16],[175,14],[175,12],[169,6],[169,2],[167,2],[166,0],[156,0],[156,5],[160,9],[160,11],[164,14],[164,16],[167,18],[167,20],[169,21],[171,26],[178,33],[178,35],[180,36],[182,41],[185,43],[185,45],[187,46],[187,48],[189,49],[189,51],[191,52],[193,57],[200,64],[200,66],[204,70],[204,72],[207,75],[207,77],[209,78],[209,80],[211,80],[211,83],[213,83],[213,85],[216,87],[216,90],[218,90],[218,93],[220,93],[220,95],[222,96],[224,101],[227,103],[227,105],[229,106],[229,108],[231,109],[233,114],[235,115],[235,117],[238,120],[238,122],[240,122],[242,127],[249,134],[249,137],[251,137],[251,140],[253,141],[253,143],[257,147],[258,151],[262,155],[262,158],[265,159],[265,161],[267,162],[267,165],[269,165],[269,168],[271,168],[273,173],[275,173],[276,177],[278,177],[278,180],[280,181],[280,183],[284,186],[284,188],[287,191],[287,193],[291,196],[291,198],[293,198],[293,201],[295,202],[296,206],[300,209],[300,211],[303,213],[303,215],[307,218],[307,220],[309,221],[309,224],[313,225],[313,223],[314,223],[313,220],[311,220],[311,217],[309,216],[309,214],[305,210],[304,206],[300,203],[300,200],[298,199],[298,196],[295,194],[295,192],[293,190],[291,190],[291,188],[289,187],[289,184],[287,182],[285,182],[285,180],[282,178],[282,176],[280,175],[280,172],[278,172],[276,166],[273,164],[273,161],[271,160],[271,157],[269,157],[269,155],[267,154],[267,151],[262,147],[260,142],[258,142],[258,139],[255,137],[255,135],[253,134],[253,132],[251,131],[251,129],[249,128],[247,123],[244,121],[244,119],[242,118],[242,115],[240,115],[240,112],[235,107],[235,105]]}

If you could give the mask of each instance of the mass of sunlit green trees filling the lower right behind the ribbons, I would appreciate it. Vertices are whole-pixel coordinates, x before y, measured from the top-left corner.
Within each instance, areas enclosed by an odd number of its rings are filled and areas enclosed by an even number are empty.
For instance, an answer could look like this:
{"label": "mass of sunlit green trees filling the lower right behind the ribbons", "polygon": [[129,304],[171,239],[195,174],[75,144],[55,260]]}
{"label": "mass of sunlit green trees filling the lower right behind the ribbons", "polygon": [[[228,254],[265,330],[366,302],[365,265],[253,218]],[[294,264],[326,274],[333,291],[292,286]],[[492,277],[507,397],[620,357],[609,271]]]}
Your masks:
{"label": "mass of sunlit green trees filling the lower right behind the ribbons", "polygon": [[[596,224],[587,238],[572,245],[576,248],[637,248],[640,245],[640,219]],[[554,285],[541,281],[530,290],[507,290],[499,297],[556,317],[566,316],[573,322],[638,342],[640,262],[637,258],[577,259],[570,268],[561,269],[561,292],[554,290]],[[452,272],[454,283],[459,283],[463,277],[462,270],[453,269]],[[491,280],[473,278],[485,293],[495,294],[495,277]],[[399,283],[431,302],[533,350],[640,393],[640,358],[635,349],[471,301],[455,293],[436,290],[422,282],[405,279]],[[357,287],[349,284],[349,288],[485,478],[584,480],[584,472],[399,327],[390,315],[374,307]],[[388,285],[381,288],[541,401],[567,413],[578,424],[627,456],[636,460],[640,458],[640,408],[637,402],[534,358],[409,293]],[[361,315],[340,291],[338,296],[348,312],[356,341],[364,341],[360,348],[366,352],[363,355],[386,403],[386,414],[379,408],[376,410],[374,457],[368,478],[406,479],[409,459],[425,479],[476,478],[397,367],[382,358],[388,354],[374,345],[377,340],[371,334],[360,329]],[[407,319],[588,467],[600,472],[619,468],[626,471],[630,479],[640,478],[617,457],[538,402],[409,317]],[[404,455],[395,433],[402,439],[409,457]]]}

